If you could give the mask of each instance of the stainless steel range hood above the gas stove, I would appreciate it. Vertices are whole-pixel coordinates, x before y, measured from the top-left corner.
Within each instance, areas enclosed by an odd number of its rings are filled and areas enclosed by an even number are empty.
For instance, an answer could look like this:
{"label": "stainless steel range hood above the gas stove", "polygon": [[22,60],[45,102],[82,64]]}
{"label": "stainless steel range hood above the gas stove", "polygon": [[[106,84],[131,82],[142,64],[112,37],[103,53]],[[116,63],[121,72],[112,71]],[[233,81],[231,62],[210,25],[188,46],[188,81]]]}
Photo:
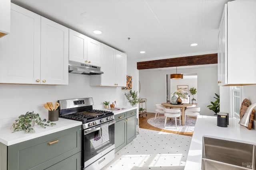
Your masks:
{"label": "stainless steel range hood above the gas stove", "polygon": [[78,63],[75,61],[68,61],[68,72],[86,75],[103,74],[100,70],[100,66]]}

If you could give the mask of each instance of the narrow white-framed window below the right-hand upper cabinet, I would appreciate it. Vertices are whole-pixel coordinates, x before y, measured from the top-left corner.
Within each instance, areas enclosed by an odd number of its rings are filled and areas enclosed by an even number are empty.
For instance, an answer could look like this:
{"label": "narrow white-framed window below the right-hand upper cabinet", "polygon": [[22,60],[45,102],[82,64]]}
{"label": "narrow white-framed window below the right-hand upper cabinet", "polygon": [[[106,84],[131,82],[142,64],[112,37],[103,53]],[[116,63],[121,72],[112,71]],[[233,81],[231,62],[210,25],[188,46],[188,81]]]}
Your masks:
{"label": "narrow white-framed window below the right-hand upper cabinet", "polygon": [[241,86],[232,86],[234,118],[240,119]]}

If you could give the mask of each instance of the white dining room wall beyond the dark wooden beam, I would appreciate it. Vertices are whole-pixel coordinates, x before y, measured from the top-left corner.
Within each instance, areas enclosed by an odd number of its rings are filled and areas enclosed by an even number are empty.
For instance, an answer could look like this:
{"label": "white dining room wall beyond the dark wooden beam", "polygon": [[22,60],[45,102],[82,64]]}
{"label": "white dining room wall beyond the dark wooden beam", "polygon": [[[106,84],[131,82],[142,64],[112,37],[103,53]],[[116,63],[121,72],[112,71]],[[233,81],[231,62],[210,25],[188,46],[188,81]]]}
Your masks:
{"label": "white dining room wall beyond the dark wooden beam", "polygon": [[[147,99],[147,111],[154,113],[155,104],[166,102],[166,74],[176,70],[139,70],[141,91],[140,97]],[[179,73],[197,73],[197,103],[201,107],[201,115],[214,115],[208,109],[214,93],[219,94],[217,64],[208,64],[189,68],[179,68]]]}

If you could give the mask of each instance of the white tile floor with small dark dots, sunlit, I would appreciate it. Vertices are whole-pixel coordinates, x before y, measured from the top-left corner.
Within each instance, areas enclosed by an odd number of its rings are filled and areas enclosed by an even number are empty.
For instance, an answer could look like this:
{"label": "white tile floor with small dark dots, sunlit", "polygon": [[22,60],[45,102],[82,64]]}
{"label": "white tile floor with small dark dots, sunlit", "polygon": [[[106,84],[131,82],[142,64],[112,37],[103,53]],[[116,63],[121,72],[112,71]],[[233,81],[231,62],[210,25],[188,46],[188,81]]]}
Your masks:
{"label": "white tile floor with small dark dots, sunlit", "polygon": [[102,170],[183,170],[192,137],[149,129],[115,154]]}

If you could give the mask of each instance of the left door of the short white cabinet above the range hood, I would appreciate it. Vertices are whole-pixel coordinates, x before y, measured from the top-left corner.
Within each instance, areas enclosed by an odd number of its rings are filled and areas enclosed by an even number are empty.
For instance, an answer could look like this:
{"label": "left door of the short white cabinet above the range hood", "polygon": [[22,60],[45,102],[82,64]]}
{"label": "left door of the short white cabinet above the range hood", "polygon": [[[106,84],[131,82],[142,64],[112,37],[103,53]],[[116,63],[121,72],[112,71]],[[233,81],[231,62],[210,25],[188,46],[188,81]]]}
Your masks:
{"label": "left door of the short white cabinet above the range hood", "polygon": [[69,60],[79,63],[87,61],[87,38],[85,35],[69,29]]}

